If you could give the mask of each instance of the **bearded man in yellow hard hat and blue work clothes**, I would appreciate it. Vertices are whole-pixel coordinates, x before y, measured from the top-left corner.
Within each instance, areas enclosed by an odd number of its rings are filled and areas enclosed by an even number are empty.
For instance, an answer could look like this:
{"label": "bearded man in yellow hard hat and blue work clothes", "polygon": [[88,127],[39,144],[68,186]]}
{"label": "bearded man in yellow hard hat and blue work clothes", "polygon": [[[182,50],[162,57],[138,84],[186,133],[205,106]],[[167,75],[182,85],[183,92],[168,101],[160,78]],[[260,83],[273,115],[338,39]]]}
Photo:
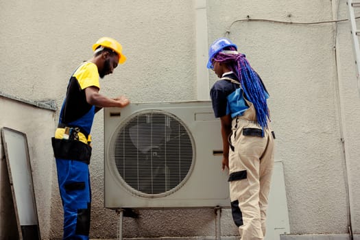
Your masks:
{"label": "bearded man in yellow hard hat and blue work clothes", "polygon": [[64,208],[63,239],[88,239],[91,207],[88,164],[95,113],[104,107],[123,108],[130,103],[124,96],[109,98],[99,94],[99,78],[112,73],[126,60],[121,44],[104,37],[93,45],[93,51],[93,58],[83,62],[70,77],[58,128],[51,139]]}

